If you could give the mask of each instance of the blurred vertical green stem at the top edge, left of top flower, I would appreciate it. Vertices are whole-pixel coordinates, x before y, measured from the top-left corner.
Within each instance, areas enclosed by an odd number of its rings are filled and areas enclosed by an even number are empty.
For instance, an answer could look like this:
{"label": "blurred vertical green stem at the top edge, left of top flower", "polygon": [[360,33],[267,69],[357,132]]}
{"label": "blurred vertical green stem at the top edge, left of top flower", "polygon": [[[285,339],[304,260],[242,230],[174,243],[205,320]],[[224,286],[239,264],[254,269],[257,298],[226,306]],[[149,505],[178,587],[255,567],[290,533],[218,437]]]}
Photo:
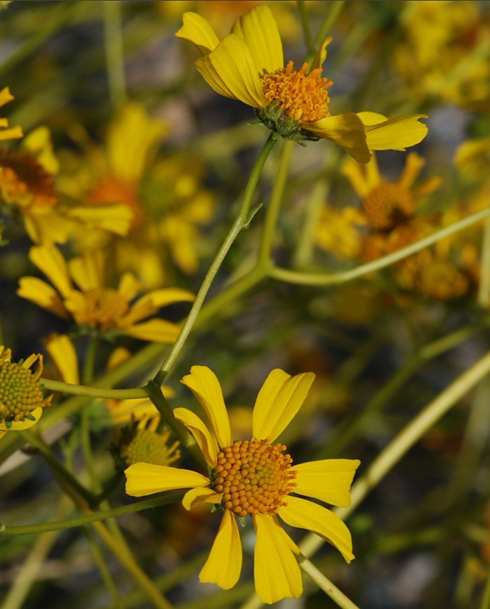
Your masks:
{"label": "blurred vertical green stem at the top edge, left of top flower", "polygon": [[122,37],[121,4],[104,2],[105,62],[109,79],[110,98],[114,108],[126,101],[126,76],[124,74],[124,47]]}

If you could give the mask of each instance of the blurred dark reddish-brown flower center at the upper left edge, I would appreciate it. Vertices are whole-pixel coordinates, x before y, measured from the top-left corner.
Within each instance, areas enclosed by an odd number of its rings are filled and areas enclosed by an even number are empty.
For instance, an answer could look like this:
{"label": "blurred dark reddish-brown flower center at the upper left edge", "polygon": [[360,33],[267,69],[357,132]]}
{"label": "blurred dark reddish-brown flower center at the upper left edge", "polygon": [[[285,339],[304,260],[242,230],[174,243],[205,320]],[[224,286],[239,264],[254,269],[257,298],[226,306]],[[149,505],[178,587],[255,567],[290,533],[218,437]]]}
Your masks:
{"label": "blurred dark reddish-brown flower center at the upper left edge", "polygon": [[0,150],[0,192],[8,204],[53,207],[53,178],[31,155]]}

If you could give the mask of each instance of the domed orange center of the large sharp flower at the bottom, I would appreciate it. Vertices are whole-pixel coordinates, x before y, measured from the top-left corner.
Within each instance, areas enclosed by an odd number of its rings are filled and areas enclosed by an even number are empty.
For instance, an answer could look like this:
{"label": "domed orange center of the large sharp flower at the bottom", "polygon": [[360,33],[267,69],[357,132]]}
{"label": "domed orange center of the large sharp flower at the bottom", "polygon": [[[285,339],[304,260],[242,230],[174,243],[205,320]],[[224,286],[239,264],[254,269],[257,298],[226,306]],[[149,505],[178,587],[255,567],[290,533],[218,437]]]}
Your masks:
{"label": "domed orange center of the large sharp flower at the bottom", "polygon": [[237,440],[223,448],[211,485],[223,493],[223,507],[238,516],[277,513],[283,497],[296,486],[296,472],[290,469],[293,459],[284,450],[281,444],[255,439]]}

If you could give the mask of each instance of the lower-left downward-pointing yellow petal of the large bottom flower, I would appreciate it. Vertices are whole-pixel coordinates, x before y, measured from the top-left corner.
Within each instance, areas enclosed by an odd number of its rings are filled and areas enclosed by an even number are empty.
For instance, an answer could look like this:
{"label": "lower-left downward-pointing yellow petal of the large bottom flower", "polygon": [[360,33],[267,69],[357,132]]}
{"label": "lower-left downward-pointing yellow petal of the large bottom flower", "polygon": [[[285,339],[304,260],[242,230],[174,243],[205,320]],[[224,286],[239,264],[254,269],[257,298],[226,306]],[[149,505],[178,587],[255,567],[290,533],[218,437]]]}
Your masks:
{"label": "lower-left downward-pointing yellow petal of the large bottom flower", "polygon": [[237,520],[230,510],[225,510],[208,560],[199,573],[199,582],[218,584],[229,590],[238,582],[240,572],[241,541]]}

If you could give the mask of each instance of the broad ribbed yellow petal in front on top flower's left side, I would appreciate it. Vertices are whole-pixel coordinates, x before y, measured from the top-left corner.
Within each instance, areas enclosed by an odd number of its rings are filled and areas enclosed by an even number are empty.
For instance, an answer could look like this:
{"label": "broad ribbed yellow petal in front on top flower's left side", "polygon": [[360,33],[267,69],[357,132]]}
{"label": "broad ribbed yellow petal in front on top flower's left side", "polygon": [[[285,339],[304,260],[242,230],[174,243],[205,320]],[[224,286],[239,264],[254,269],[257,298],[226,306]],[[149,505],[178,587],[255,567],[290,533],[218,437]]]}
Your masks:
{"label": "broad ribbed yellow petal in front on top flower's left side", "polygon": [[220,95],[252,107],[265,105],[258,69],[249,47],[237,34],[230,34],[196,62],[197,71]]}

